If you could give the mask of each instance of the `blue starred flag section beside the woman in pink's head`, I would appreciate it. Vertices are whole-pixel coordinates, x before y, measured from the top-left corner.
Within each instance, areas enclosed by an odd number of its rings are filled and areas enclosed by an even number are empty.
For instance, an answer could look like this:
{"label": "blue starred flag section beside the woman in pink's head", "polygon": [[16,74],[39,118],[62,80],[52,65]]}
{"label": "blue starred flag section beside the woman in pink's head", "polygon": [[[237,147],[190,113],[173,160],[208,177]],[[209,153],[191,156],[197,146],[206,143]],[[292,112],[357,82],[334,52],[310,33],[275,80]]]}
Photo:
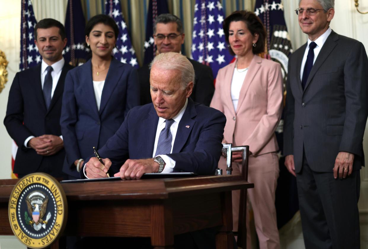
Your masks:
{"label": "blue starred flag section beside the woman in pink's head", "polygon": [[216,78],[220,68],[231,62],[222,28],[224,13],[219,1],[196,0],[192,33],[192,58],[209,65]]}

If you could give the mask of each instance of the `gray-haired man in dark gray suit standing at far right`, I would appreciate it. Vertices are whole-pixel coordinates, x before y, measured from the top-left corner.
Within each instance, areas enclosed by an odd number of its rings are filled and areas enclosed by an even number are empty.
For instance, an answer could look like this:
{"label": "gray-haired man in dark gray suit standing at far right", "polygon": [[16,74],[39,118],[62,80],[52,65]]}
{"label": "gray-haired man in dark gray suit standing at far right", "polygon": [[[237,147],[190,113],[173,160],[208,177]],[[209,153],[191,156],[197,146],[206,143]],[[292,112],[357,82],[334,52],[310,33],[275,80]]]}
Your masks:
{"label": "gray-haired man in dark gray suit standing at far right", "polygon": [[306,248],[360,248],[358,199],[367,120],[362,43],[329,27],[334,0],[300,0],[308,42],[290,57],[285,165],[297,177]]}

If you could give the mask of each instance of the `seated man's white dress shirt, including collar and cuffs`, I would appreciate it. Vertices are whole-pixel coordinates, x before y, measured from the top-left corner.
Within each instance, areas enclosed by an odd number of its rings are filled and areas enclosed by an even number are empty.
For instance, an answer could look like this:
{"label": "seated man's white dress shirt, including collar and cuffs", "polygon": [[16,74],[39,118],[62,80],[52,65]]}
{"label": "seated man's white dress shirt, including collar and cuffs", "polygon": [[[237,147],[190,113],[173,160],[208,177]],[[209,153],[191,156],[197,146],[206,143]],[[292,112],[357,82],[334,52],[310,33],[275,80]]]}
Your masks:
{"label": "seated man's white dress shirt, including collar and cuffs", "polygon": [[[170,151],[170,153],[173,152],[173,147],[174,147],[174,142],[175,142],[175,138],[176,138],[176,132],[178,130],[178,125],[179,125],[179,122],[180,122],[181,118],[183,118],[183,115],[184,115],[185,109],[187,108],[187,105],[188,105],[188,99],[185,100],[185,104],[184,104],[183,108],[181,108],[180,112],[174,118],[172,118],[172,119],[174,119],[174,122],[170,126],[170,131],[171,131],[171,136],[173,137],[173,140],[171,141],[171,151]],[[159,136],[160,136],[160,133],[161,133],[162,129],[165,128],[165,125],[166,125],[166,119],[159,118],[159,122],[157,124],[157,129],[156,129],[155,144],[153,145],[152,158],[155,157],[157,144],[158,144],[158,141],[159,141]],[[176,163],[175,160],[170,158],[168,155],[159,155],[159,156],[161,156],[162,159],[164,160],[164,162],[166,163],[166,165],[165,165],[165,167],[164,167],[164,169],[161,173],[172,173],[173,170],[174,170],[174,167],[175,167],[175,163]],[[86,178],[88,178],[87,174],[86,174],[86,167],[83,167],[83,173],[84,173],[84,176]]]}

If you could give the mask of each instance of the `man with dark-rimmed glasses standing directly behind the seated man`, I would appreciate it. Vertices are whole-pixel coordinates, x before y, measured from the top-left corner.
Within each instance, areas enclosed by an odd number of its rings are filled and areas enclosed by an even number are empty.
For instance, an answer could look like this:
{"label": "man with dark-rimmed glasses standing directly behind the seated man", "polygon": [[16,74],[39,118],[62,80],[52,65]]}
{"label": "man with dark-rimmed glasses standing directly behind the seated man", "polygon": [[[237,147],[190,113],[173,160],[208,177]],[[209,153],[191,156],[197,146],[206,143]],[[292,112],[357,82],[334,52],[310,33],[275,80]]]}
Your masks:
{"label": "man with dark-rimmed glasses standing directly behind the seated man", "polygon": [[[185,34],[183,23],[177,16],[171,14],[159,15],[153,24],[153,34],[157,54],[167,52],[181,53]],[[188,59],[195,71],[195,85],[190,97],[194,102],[209,106],[215,91],[212,70],[209,66],[190,58]],[[139,83],[141,85],[141,105],[152,102],[149,73],[148,64],[138,69]]]}

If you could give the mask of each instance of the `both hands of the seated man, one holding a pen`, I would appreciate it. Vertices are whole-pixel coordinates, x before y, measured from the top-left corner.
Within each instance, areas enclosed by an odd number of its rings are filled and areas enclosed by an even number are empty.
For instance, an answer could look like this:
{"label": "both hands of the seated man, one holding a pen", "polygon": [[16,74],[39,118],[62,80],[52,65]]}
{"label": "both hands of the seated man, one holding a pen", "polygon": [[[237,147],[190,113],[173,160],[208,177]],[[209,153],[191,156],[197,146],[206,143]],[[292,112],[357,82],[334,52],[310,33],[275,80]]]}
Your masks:
{"label": "both hands of the seated man, one holding a pen", "polygon": [[[108,158],[102,159],[103,165],[97,158],[93,157],[85,164],[86,175],[88,178],[103,178],[107,177],[107,170],[110,169],[111,161]],[[114,176],[120,176],[123,180],[140,179],[144,173],[157,172],[159,164],[153,158],[149,159],[128,159],[120,171]]]}

